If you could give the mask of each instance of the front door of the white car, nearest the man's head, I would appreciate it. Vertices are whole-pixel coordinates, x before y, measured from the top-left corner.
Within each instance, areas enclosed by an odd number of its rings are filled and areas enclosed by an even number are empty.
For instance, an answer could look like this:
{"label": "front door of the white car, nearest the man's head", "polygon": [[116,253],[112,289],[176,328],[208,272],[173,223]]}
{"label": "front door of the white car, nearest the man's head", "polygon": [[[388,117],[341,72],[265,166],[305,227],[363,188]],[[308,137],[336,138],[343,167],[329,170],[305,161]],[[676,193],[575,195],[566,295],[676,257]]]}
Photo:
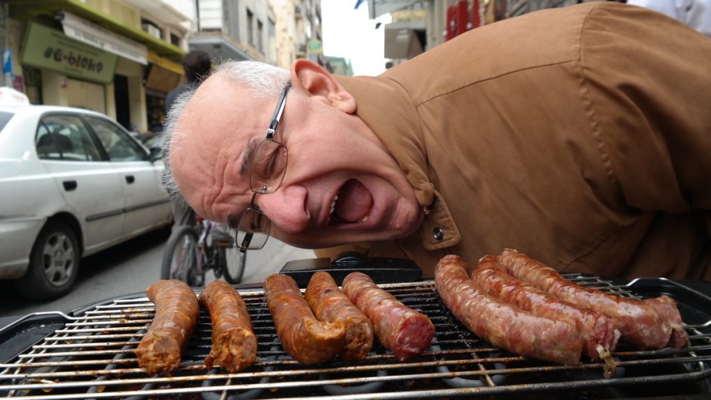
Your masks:
{"label": "front door of the white car, nearest the man's head", "polygon": [[134,236],[170,221],[170,202],[160,186],[162,162],[149,161],[146,149],[117,123],[94,116],[85,120],[119,174],[124,190],[124,235]]}

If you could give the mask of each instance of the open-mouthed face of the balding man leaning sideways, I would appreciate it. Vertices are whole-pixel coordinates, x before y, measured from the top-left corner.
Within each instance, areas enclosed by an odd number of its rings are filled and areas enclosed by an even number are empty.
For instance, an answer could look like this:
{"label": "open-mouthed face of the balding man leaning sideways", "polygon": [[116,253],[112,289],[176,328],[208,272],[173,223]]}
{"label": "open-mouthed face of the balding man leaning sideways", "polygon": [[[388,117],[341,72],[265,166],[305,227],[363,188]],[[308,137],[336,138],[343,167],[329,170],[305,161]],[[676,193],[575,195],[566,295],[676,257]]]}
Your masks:
{"label": "open-mouthed face of the balding man leaning sideways", "polygon": [[[264,139],[277,97],[255,100],[221,75],[193,96],[171,166],[198,214],[237,228],[252,199],[245,144]],[[422,221],[405,174],[355,115],[292,88],[275,140],[289,149],[286,176],[277,191],[255,199],[272,221],[271,236],[320,248],[407,236]]]}

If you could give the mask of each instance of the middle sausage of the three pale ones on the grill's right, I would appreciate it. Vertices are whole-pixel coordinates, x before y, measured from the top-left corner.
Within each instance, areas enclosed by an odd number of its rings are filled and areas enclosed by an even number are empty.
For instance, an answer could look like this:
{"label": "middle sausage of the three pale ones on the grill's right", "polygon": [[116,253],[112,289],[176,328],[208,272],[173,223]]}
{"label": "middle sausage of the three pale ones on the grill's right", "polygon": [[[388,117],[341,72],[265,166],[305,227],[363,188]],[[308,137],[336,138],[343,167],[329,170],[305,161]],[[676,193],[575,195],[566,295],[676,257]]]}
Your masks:
{"label": "middle sausage of the three pale ones on the grill's right", "polygon": [[471,278],[483,293],[516,305],[522,310],[550,320],[570,320],[583,337],[583,353],[594,361],[599,360],[601,355],[607,357],[617,345],[620,333],[615,329],[611,318],[600,312],[558,300],[547,292],[513,278],[498,262],[497,257],[481,258],[479,265],[471,272]]}

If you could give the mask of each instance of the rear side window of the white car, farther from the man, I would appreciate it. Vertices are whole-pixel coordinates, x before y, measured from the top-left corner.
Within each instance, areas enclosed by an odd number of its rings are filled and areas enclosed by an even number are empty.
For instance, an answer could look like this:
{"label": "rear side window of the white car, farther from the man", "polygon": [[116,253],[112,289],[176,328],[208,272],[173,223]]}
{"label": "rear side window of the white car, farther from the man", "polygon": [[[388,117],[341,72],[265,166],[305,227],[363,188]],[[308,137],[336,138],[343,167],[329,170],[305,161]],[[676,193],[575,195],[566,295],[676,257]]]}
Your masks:
{"label": "rear side window of the white car, farther from the man", "polygon": [[76,115],[55,114],[42,117],[35,137],[41,159],[100,161],[99,149],[82,120]]}

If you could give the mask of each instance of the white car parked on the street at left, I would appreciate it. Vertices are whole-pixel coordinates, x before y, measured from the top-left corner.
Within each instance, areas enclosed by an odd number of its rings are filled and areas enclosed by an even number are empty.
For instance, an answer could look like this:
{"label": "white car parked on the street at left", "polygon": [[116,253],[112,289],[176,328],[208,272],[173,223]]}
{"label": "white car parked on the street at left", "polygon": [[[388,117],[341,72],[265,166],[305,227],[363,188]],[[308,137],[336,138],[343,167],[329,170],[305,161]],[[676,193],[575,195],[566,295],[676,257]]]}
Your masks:
{"label": "white car parked on the street at left", "polygon": [[80,259],[171,223],[163,162],[106,115],[0,106],[0,279],[68,293]]}

